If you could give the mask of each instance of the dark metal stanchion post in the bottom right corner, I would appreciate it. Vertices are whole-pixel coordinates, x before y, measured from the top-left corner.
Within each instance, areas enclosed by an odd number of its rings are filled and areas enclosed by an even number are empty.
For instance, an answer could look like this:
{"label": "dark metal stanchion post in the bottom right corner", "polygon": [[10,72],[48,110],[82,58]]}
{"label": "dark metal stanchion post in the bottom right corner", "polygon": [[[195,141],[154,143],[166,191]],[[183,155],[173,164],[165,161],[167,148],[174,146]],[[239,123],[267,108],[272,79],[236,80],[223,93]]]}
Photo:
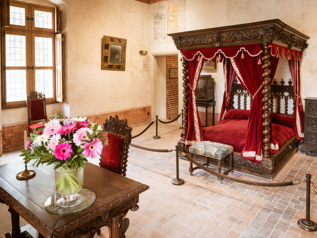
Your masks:
{"label": "dark metal stanchion post in the bottom right corner", "polygon": [[312,175],[306,174],[306,219],[297,221],[297,225],[307,231],[316,231],[317,225],[314,221],[310,221],[310,178]]}

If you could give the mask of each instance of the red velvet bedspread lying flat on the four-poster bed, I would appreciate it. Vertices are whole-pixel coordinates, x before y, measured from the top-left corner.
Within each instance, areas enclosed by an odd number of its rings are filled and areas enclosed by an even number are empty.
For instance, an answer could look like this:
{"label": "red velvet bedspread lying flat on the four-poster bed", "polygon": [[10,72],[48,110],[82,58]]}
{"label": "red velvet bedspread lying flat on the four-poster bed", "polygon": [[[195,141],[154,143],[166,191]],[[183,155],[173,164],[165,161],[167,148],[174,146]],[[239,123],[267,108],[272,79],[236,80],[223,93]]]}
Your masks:
{"label": "red velvet bedspread lying flat on the four-poster bed", "polygon": [[[294,130],[280,124],[272,123],[274,138],[279,147],[292,136]],[[232,145],[235,152],[241,152],[245,145],[248,120],[224,119],[215,126],[203,127],[204,140]]]}

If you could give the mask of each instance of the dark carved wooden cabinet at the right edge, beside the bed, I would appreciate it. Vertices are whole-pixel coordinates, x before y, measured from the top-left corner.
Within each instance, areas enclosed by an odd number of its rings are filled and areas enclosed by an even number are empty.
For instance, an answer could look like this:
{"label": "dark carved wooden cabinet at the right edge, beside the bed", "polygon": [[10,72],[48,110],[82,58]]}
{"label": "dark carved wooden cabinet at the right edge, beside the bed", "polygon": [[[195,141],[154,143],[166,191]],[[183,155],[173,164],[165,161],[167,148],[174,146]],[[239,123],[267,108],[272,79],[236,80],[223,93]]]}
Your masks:
{"label": "dark carved wooden cabinet at the right edge, beside the bed", "polygon": [[301,155],[317,152],[317,97],[305,100],[304,142],[299,145]]}

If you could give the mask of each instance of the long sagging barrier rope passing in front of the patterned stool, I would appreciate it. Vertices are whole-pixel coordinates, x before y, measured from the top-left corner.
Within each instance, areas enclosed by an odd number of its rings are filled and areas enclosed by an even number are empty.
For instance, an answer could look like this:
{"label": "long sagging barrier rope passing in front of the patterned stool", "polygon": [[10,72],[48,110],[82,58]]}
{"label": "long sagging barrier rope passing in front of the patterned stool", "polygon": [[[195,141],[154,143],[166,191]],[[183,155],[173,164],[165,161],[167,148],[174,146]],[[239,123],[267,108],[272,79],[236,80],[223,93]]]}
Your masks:
{"label": "long sagging barrier rope passing in front of the patterned stool", "polygon": [[232,178],[228,175],[223,175],[220,174],[216,171],[213,171],[212,169],[209,169],[207,167],[205,167],[204,165],[200,164],[199,162],[197,162],[196,160],[192,159],[190,156],[186,155],[184,152],[182,152],[182,155],[188,159],[190,162],[192,162],[193,164],[197,165],[200,169],[203,169],[213,175],[216,175],[217,177],[223,178],[223,179],[228,179],[230,181],[234,181],[234,182],[239,182],[239,183],[244,183],[244,184],[248,184],[248,185],[255,185],[255,186],[263,186],[263,187],[282,187],[282,186],[291,186],[291,185],[296,185],[301,183],[302,181],[299,180],[294,180],[294,181],[285,181],[285,182],[253,182],[253,181],[246,181],[243,179],[237,179],[237,178]]}

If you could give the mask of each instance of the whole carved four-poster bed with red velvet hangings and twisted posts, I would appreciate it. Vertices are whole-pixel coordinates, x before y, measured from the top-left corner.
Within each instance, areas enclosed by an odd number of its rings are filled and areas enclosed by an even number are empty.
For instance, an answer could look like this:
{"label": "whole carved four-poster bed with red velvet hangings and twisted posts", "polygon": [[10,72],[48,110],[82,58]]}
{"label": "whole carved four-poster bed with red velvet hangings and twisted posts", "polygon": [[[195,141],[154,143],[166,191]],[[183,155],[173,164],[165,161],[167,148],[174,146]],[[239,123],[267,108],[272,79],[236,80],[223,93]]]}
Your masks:
{"label": "whole carved four-poster bed with red velvet hangings and twisted posts", "polygon": [[[219,142],[215,141],[217,140],[215,135],[220,135],[223,139],[222,135],[231,132],[231,137],[234,137],[237,131],[228,131],[230,127],[227,125],[223,126],[223,130],[217,129],[225,123],[236,123],[234,128],[243,128],[244,132],[241,132],[241,135],[244,137],[234,138],[243,142],[240,147],[234,148],[235,170],[273,178],[297,151],[298,141],[303,140],[304,137],[299,61],[303,50],[307,47],[306,41],[309,37],[278,19],[180,32],[169,36],[172,36],[183,60],[184,118],[181,141],[178,142],[179,151],[188,153],[191,145],[204,140]],[[282,98],[293,99],[294,117],[273,115],[272,122],[271,94],[277,97],[280,96],[280,92],[277,89],[271,92],[270,85],[280,58],[288,60],[293,91],[289,89],[290,87],[281,88],[283,85],[275,85],[276,83],[272,88],[277,87],[280,91],[288,92],[288,95],[283,94]],[[195,98],[195,89],[205,60],[223,62],[224,69],[225,92],[220,114],[221,121],[214,127],[216,130],[214,133],[212,133],[214,128],[202,128]],[[232,98],[238,92],[234,91],[237,86],[233,86],[236,78],[241,83],[240,87],[245,90],[244,94],[249,94],[251,98],[250,110],[242,111],[243,119],[240,118],[240,111],[230,109],[233,107]],[[285,100],[285,104],[284,114],[288,114],[288,100]],[[277,114],[281,114],[280,97],[277,99],[277,108]],[[233,114],[231,118],[228,118],[230,117],[228,113]],[[288,121],[286,126],[284,121]],[[274,130],[278,134],[275,135]],[[211,131],[209,136],[207,131]],[[221,143],[230,145],[226,141]],[[232,143],[231,145],[234,146]],[[204,158],[197,157],[197,159],[204,161]],[[229,161],[224,159],[224,166],[226,165],[229,165]]]}

